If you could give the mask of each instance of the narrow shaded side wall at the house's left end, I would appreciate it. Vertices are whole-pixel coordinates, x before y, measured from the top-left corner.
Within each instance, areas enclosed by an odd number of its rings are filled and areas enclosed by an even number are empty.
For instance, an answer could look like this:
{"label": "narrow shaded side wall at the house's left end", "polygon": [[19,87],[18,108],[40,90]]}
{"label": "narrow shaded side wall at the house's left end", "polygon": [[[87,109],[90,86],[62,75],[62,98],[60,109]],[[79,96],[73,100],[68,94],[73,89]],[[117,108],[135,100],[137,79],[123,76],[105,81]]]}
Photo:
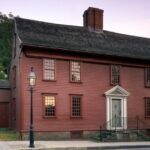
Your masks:
{"label": "narrow shaded side wall at the house's left end", "polygon": [[[13,38],[13,46],[12,46],[12,54],[11,54],[11,67],[10,67],[10,86],[11,86],[11,99],[10,99],[10,111],[11,119],[10,119],[10,127],[21,130],[21,60],[22,60],[22,51],[21,51],[21,41],[17,34],[17,29],[15,25]],[[14,68],[16,68],[16,72],[14,72]],[[15,77],[15,80],[14,80]]]}

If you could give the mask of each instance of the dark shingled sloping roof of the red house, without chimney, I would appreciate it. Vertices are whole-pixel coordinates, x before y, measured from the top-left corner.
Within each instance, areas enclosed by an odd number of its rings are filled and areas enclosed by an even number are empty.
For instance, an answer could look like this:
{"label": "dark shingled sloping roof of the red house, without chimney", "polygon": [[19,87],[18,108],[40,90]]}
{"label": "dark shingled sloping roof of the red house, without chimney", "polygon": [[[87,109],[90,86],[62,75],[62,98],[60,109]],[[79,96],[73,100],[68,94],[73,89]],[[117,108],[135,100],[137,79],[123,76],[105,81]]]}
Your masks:
{"label": "dark shingled sloping roof of the red house, without chimney", "polygon": [[23,45],[150,60],[150,38],[15,18]]}

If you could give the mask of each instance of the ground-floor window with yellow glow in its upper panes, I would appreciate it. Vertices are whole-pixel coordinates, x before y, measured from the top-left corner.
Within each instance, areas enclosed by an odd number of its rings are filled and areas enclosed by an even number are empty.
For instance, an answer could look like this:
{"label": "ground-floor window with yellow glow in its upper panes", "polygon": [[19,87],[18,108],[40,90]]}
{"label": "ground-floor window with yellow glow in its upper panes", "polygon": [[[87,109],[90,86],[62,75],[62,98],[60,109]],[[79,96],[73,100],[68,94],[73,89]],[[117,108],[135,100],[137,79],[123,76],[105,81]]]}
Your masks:
{"label": "ground-floor window with yellow glow in its upper panes", "polygon": [[45,94],[44,99],[44,117],[56,116],[56,96],[51,94]]}

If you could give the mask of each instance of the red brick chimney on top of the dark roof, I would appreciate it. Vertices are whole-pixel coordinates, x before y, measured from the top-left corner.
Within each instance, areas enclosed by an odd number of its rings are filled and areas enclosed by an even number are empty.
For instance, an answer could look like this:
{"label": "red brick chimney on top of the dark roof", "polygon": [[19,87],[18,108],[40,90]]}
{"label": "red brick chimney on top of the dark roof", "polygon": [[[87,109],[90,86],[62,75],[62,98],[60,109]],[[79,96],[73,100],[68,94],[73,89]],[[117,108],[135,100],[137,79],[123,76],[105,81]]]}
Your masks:
{"label": "red brick chimney on top of the dark roof", "polygon": [[83,14],[84,27],[90,31],[103,30],[103,10],[89,7]]}

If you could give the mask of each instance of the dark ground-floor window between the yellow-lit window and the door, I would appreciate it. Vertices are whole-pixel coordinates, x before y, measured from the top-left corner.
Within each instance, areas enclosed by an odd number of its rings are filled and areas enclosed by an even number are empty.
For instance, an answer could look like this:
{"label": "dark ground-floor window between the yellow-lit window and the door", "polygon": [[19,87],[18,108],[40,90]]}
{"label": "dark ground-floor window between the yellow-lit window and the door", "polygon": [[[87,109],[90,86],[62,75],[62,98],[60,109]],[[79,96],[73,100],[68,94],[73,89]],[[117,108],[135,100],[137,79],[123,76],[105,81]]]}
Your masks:
{"label": "dark ground-floor window between the yellow-lit window and the door", "polygon": [[82,98],[79,95],[71,96],[71,117],[77,118],[82,116],[81,100]]}

